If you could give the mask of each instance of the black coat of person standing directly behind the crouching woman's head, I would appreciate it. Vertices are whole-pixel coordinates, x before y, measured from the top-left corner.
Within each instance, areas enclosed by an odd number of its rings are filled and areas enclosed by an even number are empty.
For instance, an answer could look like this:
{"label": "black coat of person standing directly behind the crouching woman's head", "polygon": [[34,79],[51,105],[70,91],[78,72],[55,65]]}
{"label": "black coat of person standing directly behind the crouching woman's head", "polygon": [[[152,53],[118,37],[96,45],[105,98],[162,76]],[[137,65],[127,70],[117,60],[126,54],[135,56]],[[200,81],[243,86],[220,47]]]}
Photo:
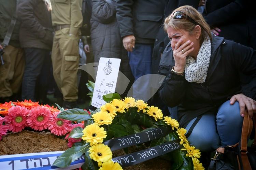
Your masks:
{"label": "black coat of person standing directly behind the crouching woman's head", "polygon": [[[165,5],[165,12],[163,14],[162,24],[165,21],[165,18],[168,17],[173,10],[175,10],[177,7],[183,6],[183,5],[191,5],[194,8],[198,8],[199,0],[166,0]],[[161,54],[163,53],[163,50],[169,43],[170,39],[168,38],[167,33],[163,30],[163,25],[161,25],[156,38],[155,38],[155,44],[154,44],[154,50],[152,55],[152,73],[156,74],[158,71],[158,66],[161,58]]]}

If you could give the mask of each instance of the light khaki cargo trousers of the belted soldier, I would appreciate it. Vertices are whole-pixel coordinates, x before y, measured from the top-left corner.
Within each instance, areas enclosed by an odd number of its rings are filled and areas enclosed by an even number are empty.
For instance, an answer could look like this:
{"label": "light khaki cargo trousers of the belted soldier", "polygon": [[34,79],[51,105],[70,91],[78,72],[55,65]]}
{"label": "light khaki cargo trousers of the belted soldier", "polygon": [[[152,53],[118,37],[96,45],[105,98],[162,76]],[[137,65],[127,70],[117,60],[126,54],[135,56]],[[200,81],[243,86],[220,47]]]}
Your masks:
{"label": "light khaki cargo trousers of the belted soldier", "polygon": [[69,35],[69,28],[55,31],[52,49],[53,76],[63,100],[77,100],[77,68],[79,67],[79,35]]}

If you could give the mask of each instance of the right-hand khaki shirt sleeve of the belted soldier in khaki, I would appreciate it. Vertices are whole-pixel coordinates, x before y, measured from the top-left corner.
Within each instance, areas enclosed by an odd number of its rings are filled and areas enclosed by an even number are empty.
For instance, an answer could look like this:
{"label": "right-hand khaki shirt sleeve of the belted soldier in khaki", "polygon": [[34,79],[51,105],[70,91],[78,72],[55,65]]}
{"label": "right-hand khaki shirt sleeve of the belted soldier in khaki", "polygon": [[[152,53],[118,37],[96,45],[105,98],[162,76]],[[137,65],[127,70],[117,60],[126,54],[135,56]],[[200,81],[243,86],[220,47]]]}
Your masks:
{"label": "right-hand khaki shirt sleeve of the belted soldier in khaki", "polygon": [[83,16],[82,16],[82,4],[80,0],[70,0],[71,3],[71,22],[70,22],[70,34],[77,35],[79,29],[82,27]]}

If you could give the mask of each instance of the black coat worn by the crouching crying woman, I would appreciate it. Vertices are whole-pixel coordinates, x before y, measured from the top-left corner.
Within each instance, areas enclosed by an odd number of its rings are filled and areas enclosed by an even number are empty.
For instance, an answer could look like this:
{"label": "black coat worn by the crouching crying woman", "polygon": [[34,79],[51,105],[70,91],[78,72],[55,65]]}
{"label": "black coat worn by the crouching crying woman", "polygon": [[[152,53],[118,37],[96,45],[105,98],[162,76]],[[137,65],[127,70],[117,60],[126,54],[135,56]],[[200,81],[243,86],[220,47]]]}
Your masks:
{"label": "black coat worn by the crouching crying woman", "polygon": [[[256,52],[252,48],[213,37],[211,59],[204,83],[190,83],[184,76],[170,72],[174,66],[170,44],[166,47],[159,71],[167,75],[159,95],[170,107],[178,105],[180,125],[207,112],[217,113],[218,107],[233,95],[243,93],[256,100]],[[239,72],[251,75],[250,83],[241,87]]]}

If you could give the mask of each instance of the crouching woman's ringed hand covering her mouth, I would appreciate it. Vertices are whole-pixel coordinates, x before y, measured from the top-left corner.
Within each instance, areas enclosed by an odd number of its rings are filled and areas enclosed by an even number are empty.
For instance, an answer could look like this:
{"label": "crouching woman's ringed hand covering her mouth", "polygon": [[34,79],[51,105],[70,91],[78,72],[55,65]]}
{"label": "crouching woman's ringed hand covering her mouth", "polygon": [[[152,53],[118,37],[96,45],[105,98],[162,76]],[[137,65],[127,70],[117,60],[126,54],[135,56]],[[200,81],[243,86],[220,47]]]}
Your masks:
{"label": "crouching woman's ringed hand covering her mouth", "polygon": [[173,57],[175,61],[174,71],[183,72],[186,64],[186,56],[194,50],[193,44],[190,40],[182,43],[180,39],[175,45],[171,45],[173,50]]}

